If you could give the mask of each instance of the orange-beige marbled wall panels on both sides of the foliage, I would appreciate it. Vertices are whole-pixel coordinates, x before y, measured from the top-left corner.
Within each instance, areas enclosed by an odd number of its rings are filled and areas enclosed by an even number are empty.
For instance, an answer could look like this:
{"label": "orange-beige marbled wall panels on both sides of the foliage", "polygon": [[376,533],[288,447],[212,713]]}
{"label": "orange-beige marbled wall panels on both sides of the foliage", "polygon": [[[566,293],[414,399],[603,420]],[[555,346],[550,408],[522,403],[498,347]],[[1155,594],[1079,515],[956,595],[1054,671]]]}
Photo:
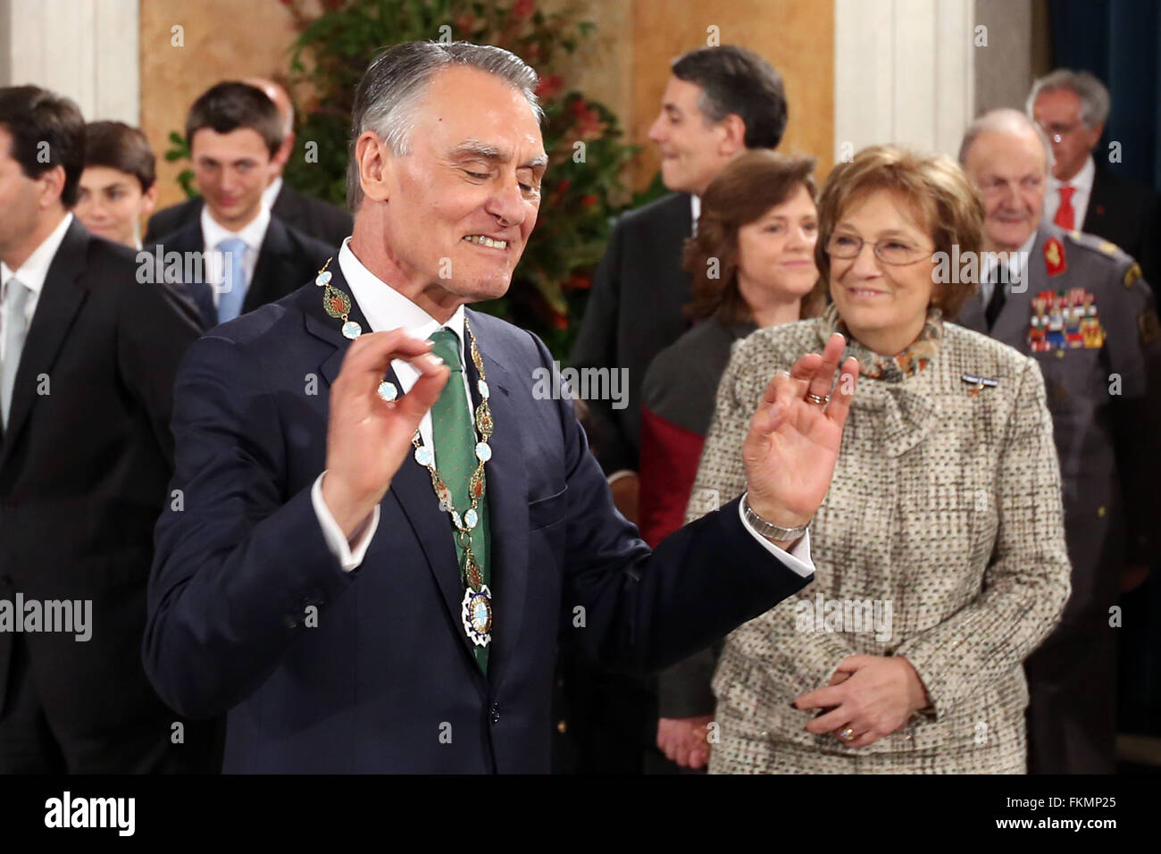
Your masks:
{"label": "orange-beige marbled wall panels on both sides of the foliage", "polygon": [[[564,6],[570,0],[543,5]],[[722,44],[751,48],[781,71],[791,102],[783,150],[819,158],[820,177],[832,163],[834,6],[828,0],[589,0],[580,6],[597,23],[596,37],[576,59],[576,79],[589,96],[620,117],[630,141],[644,146],[628,175],[649,182],[657,157],[647,138],[669,79],[670,60],[704,46],[707,28]],[[172,46],[172,28],[183,28],[185,46]],[[180,166],[160,155],[171,130],[180,131],[186,109],[223,79],[284,73],[295,37],[277,0],[147,0],[140,5],[142,127],[157,146],[160,203],[181,198]]]}

